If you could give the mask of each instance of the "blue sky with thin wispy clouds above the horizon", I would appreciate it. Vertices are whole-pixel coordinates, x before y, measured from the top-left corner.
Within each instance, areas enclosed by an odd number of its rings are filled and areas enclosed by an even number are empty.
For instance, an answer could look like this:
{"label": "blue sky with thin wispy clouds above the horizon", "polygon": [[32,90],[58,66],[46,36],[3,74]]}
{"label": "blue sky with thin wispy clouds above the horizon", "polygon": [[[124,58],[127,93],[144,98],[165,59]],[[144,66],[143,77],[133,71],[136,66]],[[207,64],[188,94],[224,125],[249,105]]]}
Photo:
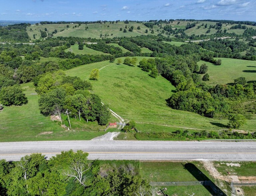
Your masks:
{"label": "blue sky with thin wispy clouds above the horizon", "polygon": [[97,21],[225,19],[256,21],[256,0],[0,0],[0,20]]}

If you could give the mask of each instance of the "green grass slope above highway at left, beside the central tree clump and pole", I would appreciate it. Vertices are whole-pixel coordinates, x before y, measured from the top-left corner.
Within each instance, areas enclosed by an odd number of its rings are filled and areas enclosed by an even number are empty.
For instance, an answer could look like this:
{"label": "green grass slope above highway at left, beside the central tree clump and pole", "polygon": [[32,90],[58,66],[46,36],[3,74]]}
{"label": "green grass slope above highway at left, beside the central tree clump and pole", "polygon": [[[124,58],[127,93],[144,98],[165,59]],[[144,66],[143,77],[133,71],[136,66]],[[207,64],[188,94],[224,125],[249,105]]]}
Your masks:
{"label": "green grass slope above highway at left, beside the central tree clump and pole", "polygon": [[[58,123],[43,116],[38,109],[38,95],[32,83],[22,84],[28,104],[4,107],[0,112],[0,142],[42,140],[89,140],[103,135],[104,127],[95,122],[81,123],[72,119],[72,130],[63,129]],[[66,117],[63,117],[67,125]]]}

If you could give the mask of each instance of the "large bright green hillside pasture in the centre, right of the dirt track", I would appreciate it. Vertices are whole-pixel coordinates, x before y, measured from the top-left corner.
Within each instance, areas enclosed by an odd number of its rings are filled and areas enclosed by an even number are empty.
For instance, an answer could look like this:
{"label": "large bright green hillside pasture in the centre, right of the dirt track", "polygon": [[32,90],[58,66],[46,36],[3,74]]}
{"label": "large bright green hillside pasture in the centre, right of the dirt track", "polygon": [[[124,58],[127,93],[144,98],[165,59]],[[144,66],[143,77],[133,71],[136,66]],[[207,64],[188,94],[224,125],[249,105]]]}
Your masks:
{"label": "large bright green hillside pasture in the centre, right of the dirt track", "polygon": [[[145,57],[137,58],[139,62]],[[124,57],[121,59],[123,60]],[[67,70],[66,73],[88,79],[92,69],[100,69],[99,80],[91,80],[93,92],[126,121],[214,130],[219,130],[218,123],[225,125],[228,123],[227,120],[211,119],[191,112],[171,109],[166,105],[166,99],[175,92],[175,87],[168,80],[162,76],[151,78],[148,72],[142,71],[137,66],[117,65],[116,62],[117,59],[115,63],[104,61],[82,65]],[[151,131],[164,129],[163,126],[140,127],[146,132],[151,128]],[[242,128],[247,129],[246,125]]]}

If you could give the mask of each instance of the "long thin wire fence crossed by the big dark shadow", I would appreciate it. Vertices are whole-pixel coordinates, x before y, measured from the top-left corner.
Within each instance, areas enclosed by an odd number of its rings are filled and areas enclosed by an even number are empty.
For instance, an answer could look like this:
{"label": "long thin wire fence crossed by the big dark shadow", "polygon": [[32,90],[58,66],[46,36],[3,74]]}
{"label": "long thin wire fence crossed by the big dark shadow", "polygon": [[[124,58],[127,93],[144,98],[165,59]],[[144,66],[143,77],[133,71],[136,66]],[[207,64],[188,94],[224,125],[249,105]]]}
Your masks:
{"label": "long thin wire fence crossed by the big dark shadow", "polygon": [[[151,186],[208,186],[210,181],[190,181],[190,182],[150,182]],[[213,185],[214,186],[214,185]]]}

